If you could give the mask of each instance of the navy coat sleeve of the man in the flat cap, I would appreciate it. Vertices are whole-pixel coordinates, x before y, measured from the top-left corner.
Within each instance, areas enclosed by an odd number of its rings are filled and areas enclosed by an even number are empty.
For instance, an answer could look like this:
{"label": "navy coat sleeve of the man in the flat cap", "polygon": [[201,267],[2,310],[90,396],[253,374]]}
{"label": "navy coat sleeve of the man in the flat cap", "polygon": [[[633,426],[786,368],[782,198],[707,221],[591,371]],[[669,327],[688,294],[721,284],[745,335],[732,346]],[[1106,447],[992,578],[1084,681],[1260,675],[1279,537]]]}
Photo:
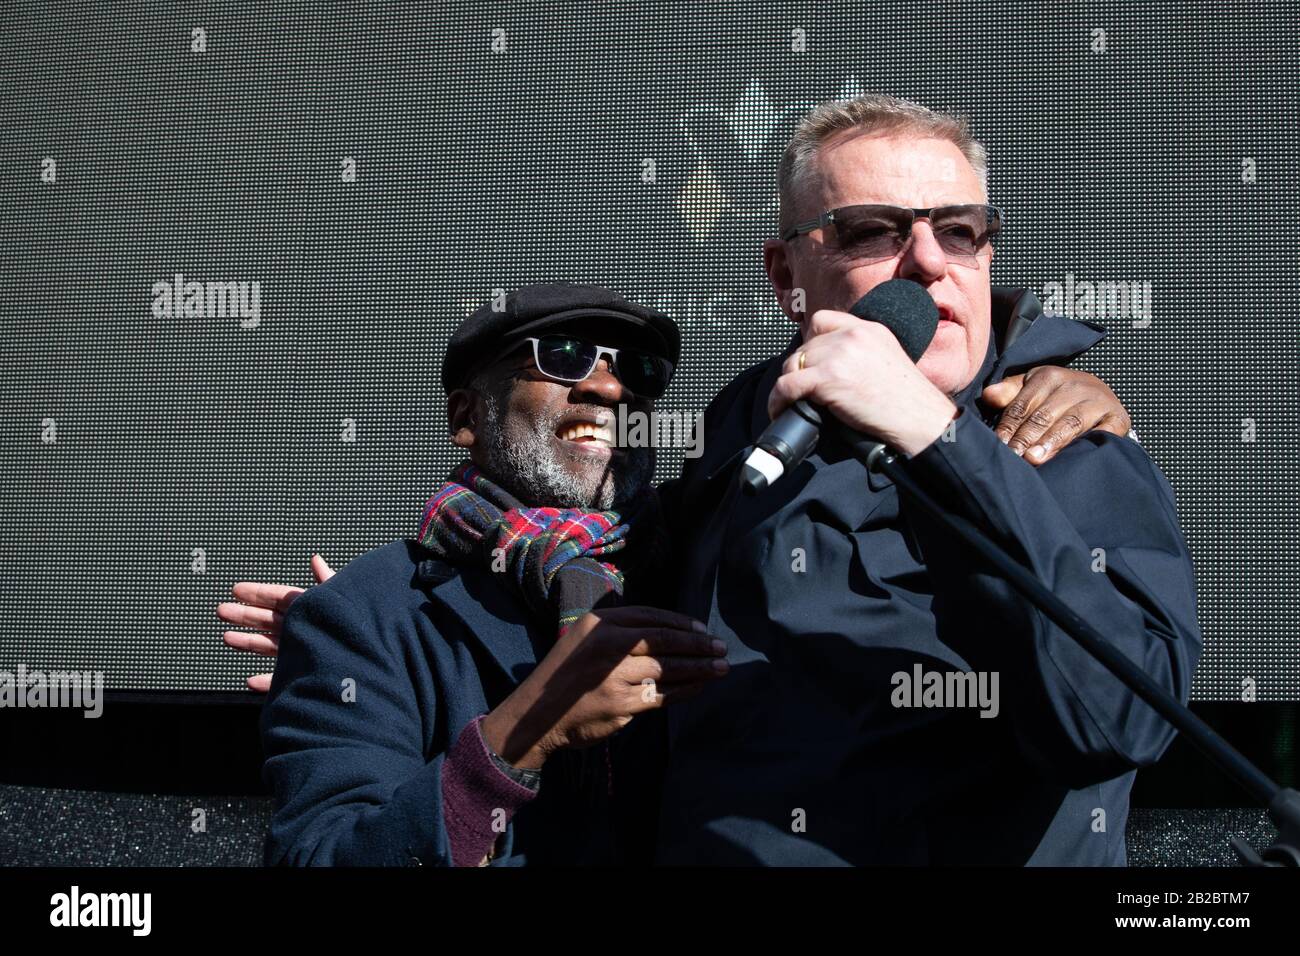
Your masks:
{"label": "navy coat sleeve of the man in the flat cap", "polygon": [[445,754],[424,753],[434,701],[417,697],[398,635],[373,617],[329,587],[285,617],[261,714],[270,865],[451,864]]}

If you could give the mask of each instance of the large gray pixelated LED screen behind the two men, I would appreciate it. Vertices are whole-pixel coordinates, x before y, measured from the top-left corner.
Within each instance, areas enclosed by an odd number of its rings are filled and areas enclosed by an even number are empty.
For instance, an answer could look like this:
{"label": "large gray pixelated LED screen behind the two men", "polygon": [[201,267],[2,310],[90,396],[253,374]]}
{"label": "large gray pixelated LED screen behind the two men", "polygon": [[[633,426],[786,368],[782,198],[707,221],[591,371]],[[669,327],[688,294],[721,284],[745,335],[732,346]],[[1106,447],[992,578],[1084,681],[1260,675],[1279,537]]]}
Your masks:
{"label": "large gray pixelated LED screen behind the two men", "polygon": [[[970,116],[993,282],[1106,326],[1079,365],[1178,496],[1193,697],[1296,700],[1296,43],[1284,1],[9,4],[0,665],[242,688],[216,605],[415,533],[494,289],[663,308],[662,405],[702,410],[793,332],[760,243],[797,118],[880,91]],[[169,315],[187,281],[242,308]]]}

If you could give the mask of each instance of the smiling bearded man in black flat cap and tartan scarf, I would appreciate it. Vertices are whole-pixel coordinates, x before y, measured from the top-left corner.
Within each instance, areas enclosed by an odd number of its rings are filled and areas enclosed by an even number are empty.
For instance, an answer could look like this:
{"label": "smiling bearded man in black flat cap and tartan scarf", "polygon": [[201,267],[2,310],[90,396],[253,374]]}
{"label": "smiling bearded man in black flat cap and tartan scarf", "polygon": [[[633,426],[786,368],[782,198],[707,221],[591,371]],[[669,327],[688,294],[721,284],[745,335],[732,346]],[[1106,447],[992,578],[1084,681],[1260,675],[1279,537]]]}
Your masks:
{"label": "smiling bearded man in black flat cap and tartan scarf", "polygon": [[653,450],[612,447],[614,408],[649,411],[679,349],[666,316],[592,286],[462,323],[442,381],[468,459],[413,538],[283,619],[269,864],[602,864],[644,840],[655,791],[621,775],[612,800],[615,763],[644,761],[603,741],[727,672],[702,624],[634,604],[667,542]]}

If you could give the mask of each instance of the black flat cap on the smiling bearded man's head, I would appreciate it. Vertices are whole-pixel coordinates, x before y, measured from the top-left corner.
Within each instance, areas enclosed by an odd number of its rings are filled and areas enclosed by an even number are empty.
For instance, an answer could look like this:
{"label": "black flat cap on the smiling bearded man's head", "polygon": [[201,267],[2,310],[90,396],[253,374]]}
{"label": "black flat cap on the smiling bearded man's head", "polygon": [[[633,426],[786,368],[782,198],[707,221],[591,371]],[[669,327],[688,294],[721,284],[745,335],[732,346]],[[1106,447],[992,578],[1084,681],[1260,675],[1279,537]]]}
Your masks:
{"label": "black flat cap on the smiling bearded man's head", "polygon": [[476,308],[451,333],[442,356],[442,388],[447,392],[464,388],[482,363],[511,341],[560,325],[582,328],[592,336],[616,328],[620,341],[662,355],[675,368],[681,354],[681,333],[672,319],[601,286],[543,282],[510,293],[499,312],[491,306],[488,302]]}

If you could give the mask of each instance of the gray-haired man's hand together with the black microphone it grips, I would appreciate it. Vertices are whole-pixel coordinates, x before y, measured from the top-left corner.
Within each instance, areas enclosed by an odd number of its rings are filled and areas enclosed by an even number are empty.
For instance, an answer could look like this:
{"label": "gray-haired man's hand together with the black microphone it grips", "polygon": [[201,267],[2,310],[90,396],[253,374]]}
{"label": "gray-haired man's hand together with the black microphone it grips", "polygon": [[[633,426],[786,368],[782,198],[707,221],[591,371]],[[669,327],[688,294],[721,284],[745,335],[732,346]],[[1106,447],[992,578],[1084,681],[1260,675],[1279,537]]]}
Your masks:
{"label": "gray-haired man's hand together with the black microphone it grips", "polygon": [[907,280],[880,284],[852,313],[814,312],[772,388],[774,421],[745,462],[745,490],[793,471],[816,446],[824,414],[906,454],[935,441],[957,414],[915,365],[937,326],[933,299]]}

